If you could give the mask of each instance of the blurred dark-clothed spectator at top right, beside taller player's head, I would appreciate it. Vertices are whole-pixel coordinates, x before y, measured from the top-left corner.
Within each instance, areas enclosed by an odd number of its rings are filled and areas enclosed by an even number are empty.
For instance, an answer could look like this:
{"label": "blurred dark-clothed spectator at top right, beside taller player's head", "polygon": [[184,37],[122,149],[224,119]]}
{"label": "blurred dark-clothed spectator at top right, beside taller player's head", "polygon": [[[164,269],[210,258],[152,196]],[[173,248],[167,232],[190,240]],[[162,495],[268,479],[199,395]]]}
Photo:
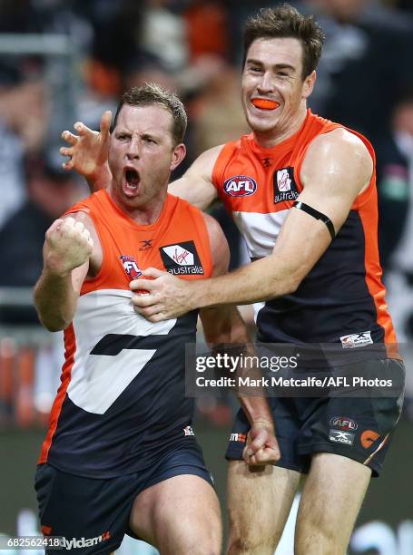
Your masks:
{"label": "blurred dark-clothed spectator at top right, beside taller player's head", "polygon": [[307,0],[327,35],[314,112],[367,134],[389,130],[389,114],[413,78],[413,19],[369,0]]}

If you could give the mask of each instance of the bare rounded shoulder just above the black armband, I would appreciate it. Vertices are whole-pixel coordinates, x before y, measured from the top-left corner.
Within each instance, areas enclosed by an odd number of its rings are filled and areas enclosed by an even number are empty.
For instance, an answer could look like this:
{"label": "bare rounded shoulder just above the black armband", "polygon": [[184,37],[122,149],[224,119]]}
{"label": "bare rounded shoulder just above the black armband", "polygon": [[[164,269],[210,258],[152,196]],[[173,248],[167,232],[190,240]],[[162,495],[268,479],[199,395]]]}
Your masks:
{"label": "bare rounded shoulder just above the black armband", "polygon": [[365,143],[354,133],[338,128],[311,141],[300,179],[304,187],[320,180],[345,180],[360,192],[369,185],[372,172],[373,161]]}

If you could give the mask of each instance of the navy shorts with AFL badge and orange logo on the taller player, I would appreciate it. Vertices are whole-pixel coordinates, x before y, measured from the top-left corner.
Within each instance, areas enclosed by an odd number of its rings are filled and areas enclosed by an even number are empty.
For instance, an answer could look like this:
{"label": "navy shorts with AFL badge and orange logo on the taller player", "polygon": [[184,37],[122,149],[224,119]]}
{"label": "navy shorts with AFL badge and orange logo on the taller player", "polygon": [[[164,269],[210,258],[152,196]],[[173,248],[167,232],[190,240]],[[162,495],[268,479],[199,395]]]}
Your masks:
{"label": "navy shorts with AFL badge and orange logo on the taller player", "polygon": [[[396,359],[359,363],[383,365],[383,370],[402,375]],[[380,368],[378,368],[380,369]],[[361,374],[362,375],[362,374]],[[270,397],[281,458],[277,466],[308,473],[313,453],[336,453],[369,466],[379,476],[384,457],[401,413],[399,397]],[[250,424],[242,410],[235,417],[228,460],[241,460]]]}

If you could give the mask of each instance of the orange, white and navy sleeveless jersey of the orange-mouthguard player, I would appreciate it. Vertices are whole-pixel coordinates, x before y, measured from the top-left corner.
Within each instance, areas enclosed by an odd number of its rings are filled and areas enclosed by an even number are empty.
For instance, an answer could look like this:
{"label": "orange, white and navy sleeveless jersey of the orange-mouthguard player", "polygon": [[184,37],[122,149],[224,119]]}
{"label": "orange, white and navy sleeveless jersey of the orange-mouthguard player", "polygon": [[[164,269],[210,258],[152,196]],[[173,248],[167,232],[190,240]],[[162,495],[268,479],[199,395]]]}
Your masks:
{"label": "orange, white and navy sleeveless jersey of the orange-mouthguard player", "polygon": [[[310,142],[340,126],[308,111],[300,131],[273,148],[253,135],[227,143],[212,180],[246,240],[252,259],[272,252],[280,226],[302,190],[300,169]],[[369,141],[364,142],[375,161]],[[345,186],[345,184],[343,184]],[[341,343],[344,348],[396,343],[388,316],[377,244],[376,172],[349,217],[297,291],[268,301],[257,324],[259,340]],[[297,236],[295,248],[302,238]]]}

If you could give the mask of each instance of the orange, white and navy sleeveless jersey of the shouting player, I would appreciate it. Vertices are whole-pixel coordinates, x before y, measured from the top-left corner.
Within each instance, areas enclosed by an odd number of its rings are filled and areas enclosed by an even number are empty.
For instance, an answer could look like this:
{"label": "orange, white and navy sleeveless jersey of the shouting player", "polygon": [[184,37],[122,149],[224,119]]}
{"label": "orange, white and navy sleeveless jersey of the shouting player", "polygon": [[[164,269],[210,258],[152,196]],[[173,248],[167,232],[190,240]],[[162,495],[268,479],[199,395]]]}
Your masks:
{"label": "orange, white and navy sleeveless jersey of the shouting player", "polygon": [[197,312],[152,324],[134,312],[129,283],[148,267],[185,279],[210,277],[210,240],[200,210],[171,195],[147,226],[124,214],[105,190],[69,213],[79,210],[93,219],[103,264],[84,281],[64,330],[62,385],[39,463],[110,478],[146,468],[194,439],[184,364]]}

